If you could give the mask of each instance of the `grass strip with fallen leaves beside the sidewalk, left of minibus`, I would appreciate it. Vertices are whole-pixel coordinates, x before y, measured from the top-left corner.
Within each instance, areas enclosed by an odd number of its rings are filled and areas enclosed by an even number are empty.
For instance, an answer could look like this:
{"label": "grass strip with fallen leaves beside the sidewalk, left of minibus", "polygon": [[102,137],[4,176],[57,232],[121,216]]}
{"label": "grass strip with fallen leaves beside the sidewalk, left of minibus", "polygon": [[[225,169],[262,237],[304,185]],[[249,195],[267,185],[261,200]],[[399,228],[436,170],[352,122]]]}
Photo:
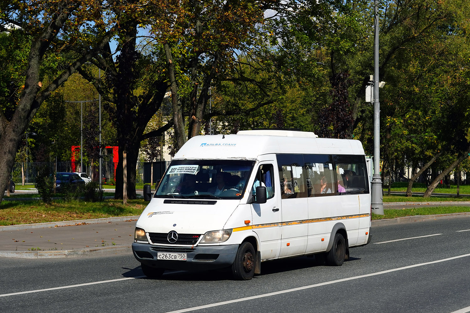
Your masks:
{"label": "grass strip with fallen leaves beside the sidewalk, left of minibus", "polygon": [[0,226],[134,216],[140,215],[147,204],[143,199],[128,200],[127,205],[123,205],[122,200],[114,199],[103,202],[55,200],[52,204],[42,201],[2,201]]}

